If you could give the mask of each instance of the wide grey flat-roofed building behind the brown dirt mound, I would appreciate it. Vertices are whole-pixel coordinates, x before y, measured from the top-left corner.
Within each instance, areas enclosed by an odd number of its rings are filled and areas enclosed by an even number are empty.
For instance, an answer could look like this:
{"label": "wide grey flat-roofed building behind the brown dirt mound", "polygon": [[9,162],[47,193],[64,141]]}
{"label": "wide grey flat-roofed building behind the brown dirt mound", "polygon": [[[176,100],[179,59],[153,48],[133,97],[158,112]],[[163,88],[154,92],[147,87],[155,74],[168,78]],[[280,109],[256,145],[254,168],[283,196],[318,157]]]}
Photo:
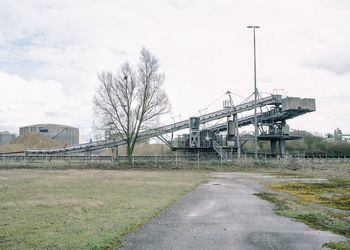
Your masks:
{"label": "wide grey flat-roofed building behind the brown dirt mound", "polygon": [[36,124],[19,128],[19,134],[38,133],[66,145],[79,144],[79,129],[60,124]]}

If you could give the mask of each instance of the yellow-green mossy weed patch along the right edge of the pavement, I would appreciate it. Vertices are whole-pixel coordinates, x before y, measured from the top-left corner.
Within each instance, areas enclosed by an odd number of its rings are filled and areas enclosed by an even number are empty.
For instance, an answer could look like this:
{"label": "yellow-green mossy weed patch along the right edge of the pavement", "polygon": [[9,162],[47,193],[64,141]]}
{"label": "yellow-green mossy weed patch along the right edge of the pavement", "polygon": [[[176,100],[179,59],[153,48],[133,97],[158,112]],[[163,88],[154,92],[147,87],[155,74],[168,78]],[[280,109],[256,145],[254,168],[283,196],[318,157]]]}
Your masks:
{"label": "yellow-green mossy weed patch along the right edge of the pavement", "polygon": [[[328,230],[350,238],[350,180],[330,179],[327,182],[292,182],[268,184],[281,193],[258,193],[256,196],[275,204],[275,212],[306,225]],[[331,249],[350,249],[350,240],[328,242]]]}

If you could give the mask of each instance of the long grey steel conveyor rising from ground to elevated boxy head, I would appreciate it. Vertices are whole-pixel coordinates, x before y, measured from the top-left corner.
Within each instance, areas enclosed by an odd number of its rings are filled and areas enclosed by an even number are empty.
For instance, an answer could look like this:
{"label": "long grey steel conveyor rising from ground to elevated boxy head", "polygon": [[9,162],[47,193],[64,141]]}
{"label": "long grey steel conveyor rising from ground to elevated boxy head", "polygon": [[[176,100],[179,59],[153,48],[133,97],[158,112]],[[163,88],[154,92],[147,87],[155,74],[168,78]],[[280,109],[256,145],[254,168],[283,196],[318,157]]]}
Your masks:
{"label": "long grey steel conveyor rising from ground to elevated boxy head", "polygon": [[[246,141],[251,140],[252,135],[240,136],[238,128],[254,124],[254,116],[246,115],[238,118],[238,114],[247,113],[253,110],[254,107],[254,101],[248,101],[238,105],[233,105],[232,101],[225,101],[224,108],[221,110],[198,117],[190,117],[189,119],[174,122],[166,126],[141,131],[138,136],[138,141],[145,141],[157,137],[166,143],[172,150],[188,152],[211,150],[226,159],[226,152],[228,150],[236,152],[237,149],[240,148],[241,143],[243,144]],[[282,95],[274,94],[258,99],[256,107],[260,110],[257,114],[257,121],[260,128],[258,139],[270,141],[272,154],[276,153],[276,145],[277,142],[279,142],[279,154],[282,155],[285,153],[285,141],[298,138],[289,134],[286,120],[316,110],[315,99],[301,99],[296,97],[282,98]],[[263,111],[263,109],[266,109],[267,111]],[[205,128],[205,125],[223,118],[227,119],[225,123]],[[265,131],[264,127],[267,127],[268,131]],[[179,136],[176,140],[169,141],[164,137],[164,135],[184,129],[189,129],[189,133]],[[222,136],[223,133],[226,133],[226,135]],[[117,157],[118,146],[123,144],[126,144],[125,141],[116,136],[113,139],[61,148],[28,149],[25,151],[25,154],[66,155],[111,148],[115,157]]]}

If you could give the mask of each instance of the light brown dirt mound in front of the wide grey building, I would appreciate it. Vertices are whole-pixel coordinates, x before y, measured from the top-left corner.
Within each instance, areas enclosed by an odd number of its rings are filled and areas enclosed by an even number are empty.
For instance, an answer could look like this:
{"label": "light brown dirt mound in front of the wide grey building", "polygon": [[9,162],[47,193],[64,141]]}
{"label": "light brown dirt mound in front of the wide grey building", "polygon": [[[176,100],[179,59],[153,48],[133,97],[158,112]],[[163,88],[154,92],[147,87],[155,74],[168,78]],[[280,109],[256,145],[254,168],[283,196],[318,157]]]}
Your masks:
{"label": "light brown dirt mound in front of the wide grey building", "polygon": [[0,146],[0,152],[18,152],[28,148],[62,147],[64,144],[35,133],[25,133]]}

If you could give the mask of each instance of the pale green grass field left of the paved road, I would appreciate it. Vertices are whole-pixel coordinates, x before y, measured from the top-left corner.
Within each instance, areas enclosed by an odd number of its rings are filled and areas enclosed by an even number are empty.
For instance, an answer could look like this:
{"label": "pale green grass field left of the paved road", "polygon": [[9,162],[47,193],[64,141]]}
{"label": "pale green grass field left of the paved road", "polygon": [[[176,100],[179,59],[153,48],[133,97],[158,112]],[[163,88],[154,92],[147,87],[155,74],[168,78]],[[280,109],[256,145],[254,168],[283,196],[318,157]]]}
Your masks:
{"label": "pale green grass field left of the paved road", "polygon": [[191,171],[0,170],[0,249],[108,249],[207,180]]}

